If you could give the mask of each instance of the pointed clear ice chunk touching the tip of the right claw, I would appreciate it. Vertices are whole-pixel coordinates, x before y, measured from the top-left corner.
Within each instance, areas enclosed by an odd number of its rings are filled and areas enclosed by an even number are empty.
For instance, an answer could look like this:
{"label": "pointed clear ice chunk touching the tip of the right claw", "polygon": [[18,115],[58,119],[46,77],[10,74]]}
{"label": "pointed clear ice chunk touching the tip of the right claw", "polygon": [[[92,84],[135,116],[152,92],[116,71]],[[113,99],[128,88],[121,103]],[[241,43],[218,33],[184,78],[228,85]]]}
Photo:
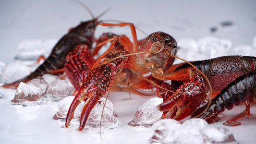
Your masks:
{"label": "pointed clear ice chunk touching the tip of the right claw", "polygon": [[134,120],[129,122],[131,126],[150,126],[160,120],[163,112],[157,106],[163,103],[163,99],[154,97],[146,101],[136,112]]}

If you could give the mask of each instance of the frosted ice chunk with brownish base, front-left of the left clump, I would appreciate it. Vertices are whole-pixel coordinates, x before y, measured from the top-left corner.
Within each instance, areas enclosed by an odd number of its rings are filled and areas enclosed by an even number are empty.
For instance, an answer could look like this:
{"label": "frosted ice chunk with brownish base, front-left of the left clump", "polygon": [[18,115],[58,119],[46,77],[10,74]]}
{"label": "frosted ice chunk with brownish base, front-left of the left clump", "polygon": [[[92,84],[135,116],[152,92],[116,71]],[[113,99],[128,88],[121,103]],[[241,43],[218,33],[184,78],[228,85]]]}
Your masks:
{"label": "frosted ice chunk with brownish base, front-left of the left clump", "polygon": [[40,93],[40,89],[33,84],[20,83],[12,102],[26,106],[42,104],[42,93]]}

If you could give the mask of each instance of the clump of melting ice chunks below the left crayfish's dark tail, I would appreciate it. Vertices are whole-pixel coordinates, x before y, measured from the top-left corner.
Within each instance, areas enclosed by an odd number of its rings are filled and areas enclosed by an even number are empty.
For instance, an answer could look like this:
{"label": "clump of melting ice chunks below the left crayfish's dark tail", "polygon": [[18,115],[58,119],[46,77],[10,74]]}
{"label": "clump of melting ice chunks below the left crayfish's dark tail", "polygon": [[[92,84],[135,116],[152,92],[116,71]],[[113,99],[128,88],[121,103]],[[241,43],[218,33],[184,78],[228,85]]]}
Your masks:
{"label": "clump of melting ice chunks below the left crayfish's dark tail", "polygon": [[38,105],[49,100],[61,100],[72,95],[74,88],[67,80],[60,80],[56,75],[45,74],[41,78],[32,79],[26,84],[20,83],[13,103]]}

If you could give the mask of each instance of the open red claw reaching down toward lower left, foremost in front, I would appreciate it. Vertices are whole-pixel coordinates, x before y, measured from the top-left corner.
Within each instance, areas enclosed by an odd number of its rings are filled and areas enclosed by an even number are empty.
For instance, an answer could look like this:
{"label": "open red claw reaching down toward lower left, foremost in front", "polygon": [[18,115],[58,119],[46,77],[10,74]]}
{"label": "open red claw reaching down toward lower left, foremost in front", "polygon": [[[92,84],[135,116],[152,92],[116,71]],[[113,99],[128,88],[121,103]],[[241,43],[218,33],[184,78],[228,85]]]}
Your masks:
{"label": "open red claw reaching down toward lower left, foremost in front", "polygon": [[[111,60],[115,57],[122,56],[126,54],[127,51],[116,51],[107,57],[102,63]],[[85,78],[84,83],[82,84],[80,90],[78,91],[77,95],[75,96],[66,119],[65,126],[68,127],[70,121],[73,119],[73,114],[75,108],[81,103],[83,100],[87,100],[85,104],[81,118],[80,118],[80,127],[79,131],[83,130],[85,127],[86,120],[91,112],[92,108],[96,105],[98,100],[106,94],[110,84],[114,79],[114,72],[117,70],[118,66],[122,63],[122,61],[126,60],[126,57],[122,57],[116,59],[111,62],[107,62],[102,66],[98,66],[93,69],[91,72],[88,73],[87,77]]]}

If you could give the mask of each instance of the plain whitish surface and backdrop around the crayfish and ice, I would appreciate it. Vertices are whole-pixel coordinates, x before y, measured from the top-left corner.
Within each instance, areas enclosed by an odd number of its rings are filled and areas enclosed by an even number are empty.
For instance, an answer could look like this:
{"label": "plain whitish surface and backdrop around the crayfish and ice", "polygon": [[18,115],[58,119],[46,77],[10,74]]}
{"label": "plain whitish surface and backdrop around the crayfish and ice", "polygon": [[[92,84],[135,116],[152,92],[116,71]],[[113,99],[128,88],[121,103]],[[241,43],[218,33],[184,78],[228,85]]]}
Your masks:
{"label": "plain whitish surface and backdrop around the crayfish and ice", "polygon": [[[205,36],[230,39],[232,47],[253,45],[256,36],[255,0],[86,0],[83,1],[95,16],[111,7],[100,20],[121,20],[132,22],[147,34],[164,31],[176,40],[192,38],[198,40]],[[90,20],[85,9],[73,0],[1,0],[0,1],[0,61],[12,61],[17,54],[19,42],[25,39],[59,39],[68,29],[81,21]],[[210,32],[210,27],[221,22],[231,21],[232,28]],[[130,36],[129,27],[98,26],[96,36],[102,32],[113,31]],[[138,32],[138,37],[145,37]],[[193,55],[191,49],[191,55]],[[222,51],[219,51],[221,53]],[[180,54],[182,55],[182,54]],[[229,55],[226,53],[225,55]],[[239,55],[239,53],[237,53]],[[256,54],[251,54],[256,56]],[[198,58],[200,59],[200,58]],[[15,91],[0,89],[5,96],[0,99],[0,143],[116,143],[143,144],[152,136],[143,129],[133,128],[127,122],[147,96],[128,93],[111,93],[114,110],[121,120],[118,130],[103,134],[76,132],[62,129],[58,121],[52,120],[57,103],[42,106],[22,107],[11,105]],[[124,97],[125,96],[125,97]],[[225,120],[243,110],[243,106],[225,111]],[[256,114],[256,108],[252,113]],[[223,126],[220,121],[219,126]],[[234,133],[240,144],[253,144],[256,141],[256,117],[244,118],[242,126],[226,127]]]}

